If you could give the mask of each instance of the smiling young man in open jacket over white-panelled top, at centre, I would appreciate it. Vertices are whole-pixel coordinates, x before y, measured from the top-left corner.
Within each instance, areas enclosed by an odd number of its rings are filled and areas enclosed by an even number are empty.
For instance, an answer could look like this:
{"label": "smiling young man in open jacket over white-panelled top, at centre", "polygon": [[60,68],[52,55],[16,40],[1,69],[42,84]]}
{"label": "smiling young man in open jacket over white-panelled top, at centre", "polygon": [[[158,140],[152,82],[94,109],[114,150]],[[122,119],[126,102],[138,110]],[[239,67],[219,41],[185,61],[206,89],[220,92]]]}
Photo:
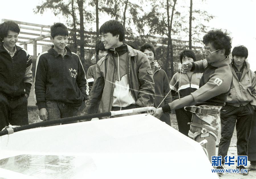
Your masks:
{"label": "smiling young man in open jacket over white-panelled top, at centre", "polygon": [[152,106],[154,81],[147,56],[123,43],[124,26],[116,20],[99,29],[107,55],[96,65],[96,79],[83,114]]}

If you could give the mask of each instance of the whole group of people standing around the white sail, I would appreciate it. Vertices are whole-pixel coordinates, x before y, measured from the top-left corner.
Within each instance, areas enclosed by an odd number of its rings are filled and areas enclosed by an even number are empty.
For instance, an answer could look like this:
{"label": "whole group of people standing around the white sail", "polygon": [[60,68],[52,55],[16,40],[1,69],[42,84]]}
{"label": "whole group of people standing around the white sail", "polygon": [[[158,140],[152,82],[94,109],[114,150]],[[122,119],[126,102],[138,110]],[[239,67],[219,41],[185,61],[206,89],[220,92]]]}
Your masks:
{"label": "whole group of people standing around the white sail", "polygon": [[[15,45],[19,32],[15,22],[0,25],[1,129],[28,124],[32,61],[26,50]],[[54,45],[38,56],[35,70],[34,93],[41,120],[78,116],[85,100],[82,114],[155,106],[154,116],[169,125],[169,112],[175,110],[183,134],[198,142],[208,141],[203,147],[209,160],[216,155],[219,131],[218,155],[227,155],[236,125],[237,155],[248,154],[249,169],[256,170],[256,77],[247,62],[246,47],[235,47],[230,59],[231,38],[220,30],[209,31],[203,37],[205,59],[196,61],[192,51],[184,50],[180,55],[182,71],[169,85],[165,71],[154,64],[151,44],[136,50],[123,43],[125,29],[116,20],[105,22],[99,32],[97,64],[85,75],[79,56],[67,47],[67,27],[62,23],[51,26]],[[181,79],[183,74],[186,78]],[[170,91],[174,97],[182,97],[171,102]]]}

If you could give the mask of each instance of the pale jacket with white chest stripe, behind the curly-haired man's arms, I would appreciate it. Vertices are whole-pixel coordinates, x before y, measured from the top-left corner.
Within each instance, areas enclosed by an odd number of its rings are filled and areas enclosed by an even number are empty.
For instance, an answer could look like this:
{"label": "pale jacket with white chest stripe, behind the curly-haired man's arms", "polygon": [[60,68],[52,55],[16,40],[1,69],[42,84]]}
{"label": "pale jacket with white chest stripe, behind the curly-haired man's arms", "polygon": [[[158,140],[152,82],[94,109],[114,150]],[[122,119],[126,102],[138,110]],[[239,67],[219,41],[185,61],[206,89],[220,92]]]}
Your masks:
{"label": "pale jacket with white chest stripe, behind the curly-haired man's arms", "polygon": [[[188,73],[192,73],[191,79],[189,79]],[[173,100],[190,95],[199,88],[199,82],[203,74],[195,72],[188,73],[177,72],[173,75],[170,82]]]}

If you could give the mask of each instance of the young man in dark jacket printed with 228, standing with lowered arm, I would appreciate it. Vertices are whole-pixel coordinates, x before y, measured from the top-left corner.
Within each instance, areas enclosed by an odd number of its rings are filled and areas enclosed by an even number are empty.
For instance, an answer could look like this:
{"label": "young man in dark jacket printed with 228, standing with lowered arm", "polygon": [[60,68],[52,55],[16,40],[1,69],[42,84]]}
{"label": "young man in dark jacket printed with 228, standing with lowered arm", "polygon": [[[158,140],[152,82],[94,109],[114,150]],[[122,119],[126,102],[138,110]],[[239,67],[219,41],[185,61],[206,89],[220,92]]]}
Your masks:
{"label": "young man in dark jacket printed with 228, standing with lowered arm", "polygon": [[78,116],[79,106],[89,95],[83,65],[66,46],[67,36],[64,24],[51,26],[54,46],[36,61],[34,92],[41,120]]}

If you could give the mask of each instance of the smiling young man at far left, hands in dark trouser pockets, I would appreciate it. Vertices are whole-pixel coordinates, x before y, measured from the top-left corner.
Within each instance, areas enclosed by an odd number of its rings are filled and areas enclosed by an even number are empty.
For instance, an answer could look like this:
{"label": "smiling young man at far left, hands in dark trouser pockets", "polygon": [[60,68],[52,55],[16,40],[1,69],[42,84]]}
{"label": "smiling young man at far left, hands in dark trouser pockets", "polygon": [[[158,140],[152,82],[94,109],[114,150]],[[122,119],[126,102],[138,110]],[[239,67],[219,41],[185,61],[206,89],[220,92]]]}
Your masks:
{"label": "smiling young man at far left, hands in dark trouser pockets", "polygon": [[19,32],[15,22],[0,24],[0,131],[9,123],[28,124],[32,60],[26,50],[15,45]]}

